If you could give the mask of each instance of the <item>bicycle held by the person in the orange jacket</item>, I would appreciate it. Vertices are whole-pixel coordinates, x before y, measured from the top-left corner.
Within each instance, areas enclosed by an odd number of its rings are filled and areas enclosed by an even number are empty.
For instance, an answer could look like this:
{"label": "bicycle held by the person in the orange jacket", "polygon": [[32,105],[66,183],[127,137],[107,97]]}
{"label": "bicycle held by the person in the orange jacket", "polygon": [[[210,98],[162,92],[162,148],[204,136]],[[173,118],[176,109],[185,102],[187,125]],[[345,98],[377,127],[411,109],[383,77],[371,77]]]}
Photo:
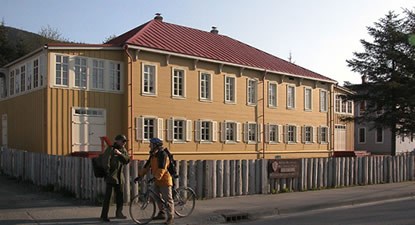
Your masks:
{"label": "bicycle held by the person in the orange jacket", "polygon": [[[140,179],[141,180],[141,179]],[[130,201],[130,217],[137,224],[151,222],[156,214],[156,202],[160,201],[164,208],[167,203],[151,187],[154,178],[146,179],[146,191],[138,193]],[[173,188],[174,213],[178,217],[192,214],[196,204],[196,194],[190,187]]]}

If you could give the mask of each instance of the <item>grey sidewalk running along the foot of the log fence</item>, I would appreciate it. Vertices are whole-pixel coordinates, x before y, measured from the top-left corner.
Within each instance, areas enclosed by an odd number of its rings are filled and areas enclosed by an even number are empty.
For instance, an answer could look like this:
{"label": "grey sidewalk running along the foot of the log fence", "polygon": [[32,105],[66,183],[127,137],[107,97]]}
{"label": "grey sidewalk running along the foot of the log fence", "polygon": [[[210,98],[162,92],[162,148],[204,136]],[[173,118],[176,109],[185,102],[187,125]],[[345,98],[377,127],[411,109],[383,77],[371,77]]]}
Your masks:
{"label": "grey sidewalk running along the foot of the log fence", "polygon": [[[276,195],[253,195],[200,200],[193,214],[177,218],[175,224],[220,224],[226,218],[237,221],[262,216],[298,213],[387,199],[413,197],[415,182],[358,186]],[[98,220],[100,206],[44,192],[38,187],[0,175],[0,224],[104,224]],[[115,206],[110,209],[114,214]],[[128,206],[124,208],[128,215]],[[224,215],[224,216],[223,216]],[[110,224],[133,224],[132,220],[112,219]],[[161,224],[161,221],[152,224]]]}

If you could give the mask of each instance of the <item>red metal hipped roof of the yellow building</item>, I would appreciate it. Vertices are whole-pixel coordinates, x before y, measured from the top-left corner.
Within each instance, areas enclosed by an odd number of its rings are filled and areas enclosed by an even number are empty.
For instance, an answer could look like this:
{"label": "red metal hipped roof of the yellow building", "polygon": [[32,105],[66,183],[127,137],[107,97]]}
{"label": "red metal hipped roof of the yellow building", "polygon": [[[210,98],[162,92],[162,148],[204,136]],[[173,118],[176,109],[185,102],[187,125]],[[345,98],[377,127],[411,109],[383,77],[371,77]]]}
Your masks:
{"label": "red metal hipped roof of the yellow building", "polygon": [[157,19],[136,27],[106,44],[118,46],[129,44],[310,79],[334,81],[225,35],[166,23]]}

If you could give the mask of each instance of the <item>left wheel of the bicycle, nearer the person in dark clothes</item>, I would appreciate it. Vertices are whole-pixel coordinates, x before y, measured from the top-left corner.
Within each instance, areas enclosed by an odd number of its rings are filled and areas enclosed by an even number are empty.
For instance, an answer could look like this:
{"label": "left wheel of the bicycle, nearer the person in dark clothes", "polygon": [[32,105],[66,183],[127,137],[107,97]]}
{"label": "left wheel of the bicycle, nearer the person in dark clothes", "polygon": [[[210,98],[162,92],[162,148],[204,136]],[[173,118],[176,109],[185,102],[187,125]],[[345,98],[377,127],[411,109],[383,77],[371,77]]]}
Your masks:
{"label": "left wheel of the bicycle, nearer the person in dark clothes", "polygon": [[130,202],[130,216],[137,224],[149,223],[156,214],[156,203],[153,197],[138,194]]}

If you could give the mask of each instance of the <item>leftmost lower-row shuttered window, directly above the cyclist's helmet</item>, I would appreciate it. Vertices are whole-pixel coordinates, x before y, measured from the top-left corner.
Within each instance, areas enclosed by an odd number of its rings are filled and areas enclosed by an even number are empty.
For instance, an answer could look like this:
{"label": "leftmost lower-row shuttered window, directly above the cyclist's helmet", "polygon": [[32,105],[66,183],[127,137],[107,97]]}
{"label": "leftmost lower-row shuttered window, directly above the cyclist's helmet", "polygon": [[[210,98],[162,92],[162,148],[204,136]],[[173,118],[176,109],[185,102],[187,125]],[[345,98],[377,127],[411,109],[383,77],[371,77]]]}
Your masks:
{"label": "leftmost lower-row shuttered window, directly above the cyclist's helmet", "polygon": [[163,119],[153,116],[142,116],[136,118],[137,140],[149,141],[151,138],[163,140]]}

